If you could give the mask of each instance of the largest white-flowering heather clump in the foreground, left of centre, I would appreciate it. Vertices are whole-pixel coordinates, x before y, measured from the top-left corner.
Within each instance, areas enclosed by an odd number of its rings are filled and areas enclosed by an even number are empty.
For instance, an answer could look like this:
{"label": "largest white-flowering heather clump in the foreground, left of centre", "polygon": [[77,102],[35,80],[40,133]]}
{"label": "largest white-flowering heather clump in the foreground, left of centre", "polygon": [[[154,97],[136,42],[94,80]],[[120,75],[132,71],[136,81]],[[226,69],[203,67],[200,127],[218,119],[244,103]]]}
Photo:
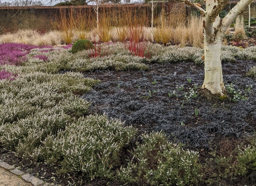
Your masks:
{"label": "largest white-flowering heather clump in the foreground, left of centre", "polygon": [[83,172],[94,179],[111,177],[119,165],[121,149],[136,130],[105,115],[90,115],[71,123],[58,136],[49,136],[33,157],[49,163],[61,161],[63,172]]}

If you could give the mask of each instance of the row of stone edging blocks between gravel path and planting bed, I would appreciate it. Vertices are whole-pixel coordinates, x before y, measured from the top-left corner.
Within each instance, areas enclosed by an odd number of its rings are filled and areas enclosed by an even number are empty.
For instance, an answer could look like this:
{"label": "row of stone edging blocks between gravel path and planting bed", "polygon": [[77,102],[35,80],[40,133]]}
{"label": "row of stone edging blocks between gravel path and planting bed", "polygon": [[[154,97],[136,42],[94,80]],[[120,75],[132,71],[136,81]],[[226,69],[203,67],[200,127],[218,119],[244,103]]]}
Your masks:
{"label": "row of stone edging blocks between gravel path and planting bed", "polygon": [[51,185],[49,183],[43,182],[42,180],[38,179],[37,177],[31,174],[24,173],[23,171],[16,169],[14,166],[5,163],[2,159],[0,159],[0,167],[2,167],[7,171],[10,171],[12,174],[20,177],[25,182],[29,182],[34,186],[50,186]]}

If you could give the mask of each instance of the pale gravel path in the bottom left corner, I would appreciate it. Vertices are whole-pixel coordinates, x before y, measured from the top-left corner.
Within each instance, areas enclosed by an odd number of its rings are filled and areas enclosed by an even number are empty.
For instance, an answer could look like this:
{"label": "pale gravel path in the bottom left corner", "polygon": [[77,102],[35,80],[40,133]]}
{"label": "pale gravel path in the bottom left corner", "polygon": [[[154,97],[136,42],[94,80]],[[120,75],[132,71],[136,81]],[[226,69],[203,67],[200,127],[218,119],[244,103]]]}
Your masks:
{"label": "pale gravel path in the bottom left corner", "polygon": [[18,176],[0,167],[0,186],[32,186]]}

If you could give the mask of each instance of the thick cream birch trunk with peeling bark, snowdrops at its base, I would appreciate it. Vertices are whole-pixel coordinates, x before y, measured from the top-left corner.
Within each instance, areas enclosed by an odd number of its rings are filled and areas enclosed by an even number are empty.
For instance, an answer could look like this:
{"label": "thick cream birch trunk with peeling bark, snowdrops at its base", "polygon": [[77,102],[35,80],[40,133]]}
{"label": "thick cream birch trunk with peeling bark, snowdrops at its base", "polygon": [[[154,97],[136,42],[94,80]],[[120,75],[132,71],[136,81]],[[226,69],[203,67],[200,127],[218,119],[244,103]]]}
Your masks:
{"label": "thick cream birch trunk with peeling bark, snowdrops at its base", "polygon": [[252,0],[240,0],[224,19],[219,18],[219,13],[227,5],[228,0],[206,0],[205,10],[190,0],[179,1],[193,6],[204,16],[204,81],[202,88],[210,90],[212,94],[223,94],[225,87],[220,56],[221,41],[227,28]]}

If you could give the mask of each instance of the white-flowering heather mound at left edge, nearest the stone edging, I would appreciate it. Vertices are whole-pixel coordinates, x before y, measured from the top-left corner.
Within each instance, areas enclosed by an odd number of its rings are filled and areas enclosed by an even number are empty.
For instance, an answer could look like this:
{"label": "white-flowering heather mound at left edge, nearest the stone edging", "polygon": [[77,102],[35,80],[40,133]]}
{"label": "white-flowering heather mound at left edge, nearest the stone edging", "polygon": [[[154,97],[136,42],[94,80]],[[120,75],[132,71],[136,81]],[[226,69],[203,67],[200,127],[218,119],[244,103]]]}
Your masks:
{"label": "white-flowering heather mound at left edge, nearest the stone edging", "polygon": [[12,124],[3,124],[0,128],[1,143],[27,156],[48,134],[56,135],[58,130],[65,128],[71,122],[69,115],[55,108],[39,109],[39,111]]}

